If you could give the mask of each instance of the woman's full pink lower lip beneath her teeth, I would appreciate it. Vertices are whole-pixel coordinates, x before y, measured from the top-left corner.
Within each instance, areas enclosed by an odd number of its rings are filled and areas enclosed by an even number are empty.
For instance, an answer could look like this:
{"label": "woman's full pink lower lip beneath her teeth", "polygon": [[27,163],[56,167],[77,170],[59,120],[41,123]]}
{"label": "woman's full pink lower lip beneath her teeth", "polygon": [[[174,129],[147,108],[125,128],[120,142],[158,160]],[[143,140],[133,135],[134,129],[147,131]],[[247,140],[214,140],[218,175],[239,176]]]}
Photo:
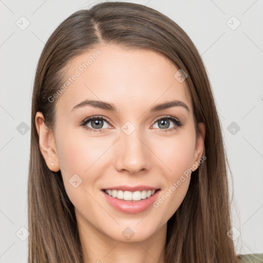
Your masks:
{"label": "woman's full pink lower lip beneath her teeth", "polygon": [[148,209],[156,201],[159,191],[160,190],[157,190],[151,197],[141,199],[140,201],[126,201],[109,196],[104,191],[102,192],[106,197],[108,203],[116,210],[126,214],[137,214]]}

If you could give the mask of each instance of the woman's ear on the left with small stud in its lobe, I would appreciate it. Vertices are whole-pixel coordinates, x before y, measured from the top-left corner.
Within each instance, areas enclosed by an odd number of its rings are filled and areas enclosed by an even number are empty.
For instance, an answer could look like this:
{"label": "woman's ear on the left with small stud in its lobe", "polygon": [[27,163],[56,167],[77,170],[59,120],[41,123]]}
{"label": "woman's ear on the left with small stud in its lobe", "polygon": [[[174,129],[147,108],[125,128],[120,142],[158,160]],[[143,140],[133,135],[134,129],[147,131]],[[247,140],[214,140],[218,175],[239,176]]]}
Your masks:
{"label": "woman's ear on the left with small stud in its lobe", "polygon": [[60,170],[57,148],[55,146],[54,135],[52,131],[46,127],[45,119],[42,112],[37,111],[35,115],[35,126],[37,135],[39,136],[40,151],[46,161],[47,166],[52,172]]}

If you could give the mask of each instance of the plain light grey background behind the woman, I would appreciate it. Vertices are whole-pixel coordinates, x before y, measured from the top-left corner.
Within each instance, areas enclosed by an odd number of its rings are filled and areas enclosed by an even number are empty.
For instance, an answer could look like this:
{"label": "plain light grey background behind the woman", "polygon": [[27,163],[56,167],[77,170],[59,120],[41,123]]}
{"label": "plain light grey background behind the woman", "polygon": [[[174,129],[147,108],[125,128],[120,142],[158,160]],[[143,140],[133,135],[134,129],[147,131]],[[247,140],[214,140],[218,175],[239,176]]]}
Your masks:
{"label": "plain light grey background behind the woman", "polygon": [[[234,191],[236,251],[263,253],[263,1],[130,2],[147,5],[172,18],[189,34],[202,55],[233,173],[230,187]],[[30,130],[25,129],[23,134],[18,125],[25,122],[30,127],[37,61],[44,43],[59,23],[74,11],[96,3],[0,0],[0,262],[27,260],[28,239],[21,238],[27,234],[24,228],[27,228]],[[17,21],[26,25],[21,16],[30,22],[25,30],[16,25]],[[238,21],[232,16],[241,23],[235,30]],[[240,127],[234,134],[229,127],[232,122]]]}

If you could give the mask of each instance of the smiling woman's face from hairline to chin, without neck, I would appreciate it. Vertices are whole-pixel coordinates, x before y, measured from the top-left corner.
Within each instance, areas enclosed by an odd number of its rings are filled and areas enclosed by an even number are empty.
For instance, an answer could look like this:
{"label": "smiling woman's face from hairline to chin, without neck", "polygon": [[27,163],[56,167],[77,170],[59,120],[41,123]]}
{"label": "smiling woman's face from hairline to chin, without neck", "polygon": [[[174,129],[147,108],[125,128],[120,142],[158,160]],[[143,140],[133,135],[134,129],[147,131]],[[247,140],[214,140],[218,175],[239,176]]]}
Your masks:
{"label": "smiling woman's face from hairline to chin, without neck", "polygon": [[49,157],[58,163],[45,158],[61,170],[83,231],[140,241],[166,228],[182,203],[203,140],[196,137],[186,83],[171,61],[148,50],[98,49],[71,62],[70,79],[53,97]]}

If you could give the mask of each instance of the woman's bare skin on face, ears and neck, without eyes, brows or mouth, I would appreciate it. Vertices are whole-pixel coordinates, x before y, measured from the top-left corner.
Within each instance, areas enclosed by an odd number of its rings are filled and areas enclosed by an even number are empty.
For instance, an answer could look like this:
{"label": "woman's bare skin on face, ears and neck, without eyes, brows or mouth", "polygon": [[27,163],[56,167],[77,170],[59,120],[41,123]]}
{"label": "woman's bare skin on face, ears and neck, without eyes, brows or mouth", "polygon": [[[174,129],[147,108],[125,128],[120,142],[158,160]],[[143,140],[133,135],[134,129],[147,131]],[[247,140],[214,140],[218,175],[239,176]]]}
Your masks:
{"label": "woman's bare skin on face, ears and neck, without eyes, brows or mouth", "polygon": [[[163,262],[161,250],[167,221],[182,203],[191,176],[158,208],[150,206],[138,214],[112,208],[101,189],[126,184],[155,186],[161,189],[158,200],[187,168],[200,160],[205,127],[199,123],[202,136],[197,136],[190,93],[185,81],[180,83],[174,78],[178,68],[170,60],[154,51],[117,45],[99,49],[102,54],[98,59],[57,99],[52,131],[44,125],[42,113],[37,112],[35,123],[41,152],[51,171],[61,170],[90,262]],[[68,77],[96,50],[72,60]],[[71,111],[85,99],[112,103],[119,111],[92,106]],[[171,100],[184,102],[190,112],[180,106],[149,111],[152,106]],[[104,122],[104,132],[89,132],[80,125],[97,115],[111,122]],[[167,115],[178,118],[183,126],[165,133],[167,128],[155,120]],[[130,135],[121,129],[127,121],[135,126]],[[87,125],[95,129],[91,122]],[[175,125],[171,120],[168,127]],[[74,174],[82,179],[77,188],[69,183]],[[127,227],[135,233],[130,240],[122,235]],[[87,256],[85,262],[89,262]]]}

